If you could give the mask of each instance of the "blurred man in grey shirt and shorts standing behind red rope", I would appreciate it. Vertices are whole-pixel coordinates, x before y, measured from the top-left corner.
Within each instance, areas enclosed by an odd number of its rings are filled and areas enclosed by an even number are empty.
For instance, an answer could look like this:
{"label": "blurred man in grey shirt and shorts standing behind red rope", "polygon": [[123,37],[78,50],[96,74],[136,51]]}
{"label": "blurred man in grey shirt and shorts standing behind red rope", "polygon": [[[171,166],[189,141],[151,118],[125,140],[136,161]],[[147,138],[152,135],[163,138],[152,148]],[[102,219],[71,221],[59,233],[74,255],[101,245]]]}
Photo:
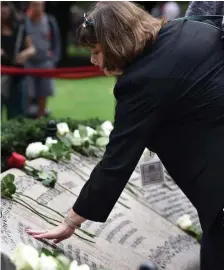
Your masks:
{"label": "blurred man in grey shirt and shorts standing behind red rope", "polygon": [[[36,54],[26,63],[25,68],[54,68],[60,60],[61,43],[58,24],[53,16],[45,13],[43,1],[29,2],[25,27],[36,48]],[[36,117],[45,115],[47,98],[53,96],[52,78],[27,77],[29,108],[31,100],[37,100]]]}

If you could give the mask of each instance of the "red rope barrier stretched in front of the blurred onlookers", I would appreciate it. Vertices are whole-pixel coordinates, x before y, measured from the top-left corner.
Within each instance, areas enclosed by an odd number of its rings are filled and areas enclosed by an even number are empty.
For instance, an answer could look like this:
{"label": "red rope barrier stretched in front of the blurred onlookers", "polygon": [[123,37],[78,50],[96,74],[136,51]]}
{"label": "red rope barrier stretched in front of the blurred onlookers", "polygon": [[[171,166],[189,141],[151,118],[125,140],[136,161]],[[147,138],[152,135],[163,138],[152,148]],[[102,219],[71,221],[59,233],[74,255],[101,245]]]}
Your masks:
{"label": "red rope barrier stretched in front of the blurred onlookers", "polygon": [[95,66],[88,67],[73,67],[73,68],[15,68],[1,66],[1,74],[4,75],[26,75],[26,76],[38,76],[38,77],[53,77],[60,79],[81,79],[104,76],[104,72]]}

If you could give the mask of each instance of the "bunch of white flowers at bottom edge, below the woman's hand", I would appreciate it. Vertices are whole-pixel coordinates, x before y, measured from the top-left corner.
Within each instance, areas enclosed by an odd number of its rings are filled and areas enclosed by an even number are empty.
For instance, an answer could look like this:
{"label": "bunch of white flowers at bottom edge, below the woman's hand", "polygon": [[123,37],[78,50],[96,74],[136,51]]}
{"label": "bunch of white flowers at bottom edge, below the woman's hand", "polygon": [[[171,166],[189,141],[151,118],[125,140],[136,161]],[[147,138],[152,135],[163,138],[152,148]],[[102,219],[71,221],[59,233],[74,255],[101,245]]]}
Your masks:
{"label": "bunch of white flowers at bottom edge, below the woman's hand", "polygon": [[36,250],[32,246],[19,244],[12,252],[11,261],[16,270],[90,270],[87,264],[78,265],[58,252],[45,248]]}

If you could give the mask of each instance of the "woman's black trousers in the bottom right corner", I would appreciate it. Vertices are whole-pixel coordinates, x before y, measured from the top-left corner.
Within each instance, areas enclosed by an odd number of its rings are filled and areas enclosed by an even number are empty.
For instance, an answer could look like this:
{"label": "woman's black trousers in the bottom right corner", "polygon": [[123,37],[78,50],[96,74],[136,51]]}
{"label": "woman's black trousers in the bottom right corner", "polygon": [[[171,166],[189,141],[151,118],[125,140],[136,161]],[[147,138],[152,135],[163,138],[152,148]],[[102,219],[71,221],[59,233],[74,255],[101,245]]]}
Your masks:
{"label": "woman's black trousers in the bottom right corner", "polygon": [[201,270],[224,270],[224,212],[201,242]]}

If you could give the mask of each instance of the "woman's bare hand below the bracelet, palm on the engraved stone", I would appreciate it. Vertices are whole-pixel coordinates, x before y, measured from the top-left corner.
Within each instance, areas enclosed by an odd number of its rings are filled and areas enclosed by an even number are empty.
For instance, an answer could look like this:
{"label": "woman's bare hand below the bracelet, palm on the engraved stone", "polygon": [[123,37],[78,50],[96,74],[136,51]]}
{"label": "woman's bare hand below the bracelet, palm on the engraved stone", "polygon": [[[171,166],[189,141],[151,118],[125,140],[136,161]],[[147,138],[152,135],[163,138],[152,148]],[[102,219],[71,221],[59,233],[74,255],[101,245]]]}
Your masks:
{"label": "woman's bare hand below the bracelet, palm on the engraved stone", "polygon": [[54,244],[60,243],[62,240],[68,239],[72,236],[75,229],[69,227],[65,223],[61,223],[56,228],[46,231],[34,231],[26,229],[26,232],[32,235],[35,239],[52,239]]}

